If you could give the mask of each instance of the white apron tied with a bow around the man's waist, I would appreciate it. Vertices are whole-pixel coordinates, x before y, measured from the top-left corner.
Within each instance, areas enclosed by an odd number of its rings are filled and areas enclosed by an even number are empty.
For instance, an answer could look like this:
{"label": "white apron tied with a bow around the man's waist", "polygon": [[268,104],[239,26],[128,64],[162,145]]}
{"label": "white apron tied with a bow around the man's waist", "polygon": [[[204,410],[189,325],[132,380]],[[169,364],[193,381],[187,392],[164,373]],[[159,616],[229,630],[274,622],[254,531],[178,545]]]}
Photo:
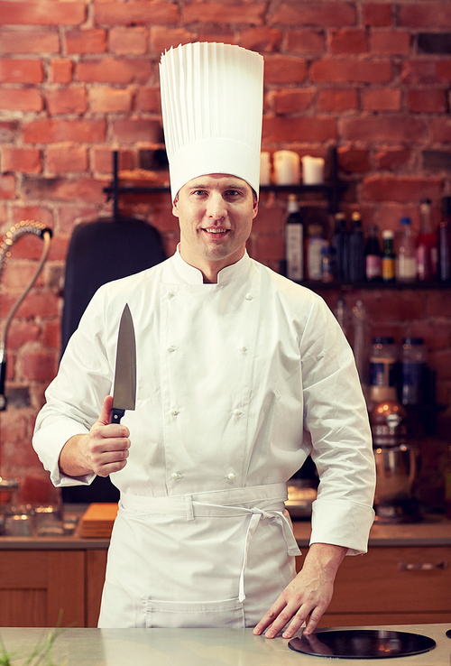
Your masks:
{"label": "white apron tied with a bow around the man's waist", "polygon": [[296,575],[285,499],[285,484],[121,495],[98,626],[257,624]]}

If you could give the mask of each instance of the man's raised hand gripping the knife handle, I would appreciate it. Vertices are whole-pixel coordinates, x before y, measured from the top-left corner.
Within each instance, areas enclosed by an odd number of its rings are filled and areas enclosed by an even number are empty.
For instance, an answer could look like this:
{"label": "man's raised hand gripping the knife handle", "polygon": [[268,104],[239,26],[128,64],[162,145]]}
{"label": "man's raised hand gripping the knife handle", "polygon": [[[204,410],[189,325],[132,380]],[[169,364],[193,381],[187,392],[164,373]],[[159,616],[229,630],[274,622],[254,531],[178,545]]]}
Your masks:
{"label": "man's raised hand gripping the knife handle", "polygon": [[110,423],[113,398],[107,395],[102,412],[89,434],[74,435],[60,453],[60,470],[67,476],[95,472],[108,476],[124,469],[130,449],[130,431],[120,423]]}

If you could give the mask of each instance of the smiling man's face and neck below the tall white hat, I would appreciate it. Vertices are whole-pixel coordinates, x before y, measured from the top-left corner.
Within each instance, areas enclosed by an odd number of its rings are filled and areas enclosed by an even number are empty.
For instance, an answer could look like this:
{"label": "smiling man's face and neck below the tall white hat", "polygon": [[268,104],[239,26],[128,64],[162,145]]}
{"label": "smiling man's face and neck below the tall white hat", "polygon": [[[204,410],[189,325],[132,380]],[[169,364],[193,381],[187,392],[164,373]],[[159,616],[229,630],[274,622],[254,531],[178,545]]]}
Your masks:
{"label": "smiling man's face and neck below the tall white hat", "polygon": [[251,186],[235,176],[210,173],[179,190],[172,212],[179,217],[180,254],[216,282],[222,268],[244,255],[258,203]]}

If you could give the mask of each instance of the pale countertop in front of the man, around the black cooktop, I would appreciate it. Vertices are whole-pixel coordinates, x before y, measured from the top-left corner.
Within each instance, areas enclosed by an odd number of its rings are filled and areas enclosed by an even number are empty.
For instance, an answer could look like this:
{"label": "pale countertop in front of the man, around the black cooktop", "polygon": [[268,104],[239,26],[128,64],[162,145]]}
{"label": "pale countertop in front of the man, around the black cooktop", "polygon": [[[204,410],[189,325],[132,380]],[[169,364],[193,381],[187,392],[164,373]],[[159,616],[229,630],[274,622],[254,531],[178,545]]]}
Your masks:
{"label": "pale countertop in front of the man, around the black cooktop", "polygon": [[[368,627],[366,627],[368,628]],[[383,666],[449,666],[451,640],[448,624],[410,624],[393,629],[427,635],[437,642],[430,652],[383,659]],[[17,661],[28,655],[49,629],[0,629],[8,652],[18,651]],[[56,664],[68,666],[358,666],[381,660],[312,657],[293,652],[288,641],[254,636],[252,629],[67,629],[53,645]],[[15,655],[14,655],[15,657]]]}

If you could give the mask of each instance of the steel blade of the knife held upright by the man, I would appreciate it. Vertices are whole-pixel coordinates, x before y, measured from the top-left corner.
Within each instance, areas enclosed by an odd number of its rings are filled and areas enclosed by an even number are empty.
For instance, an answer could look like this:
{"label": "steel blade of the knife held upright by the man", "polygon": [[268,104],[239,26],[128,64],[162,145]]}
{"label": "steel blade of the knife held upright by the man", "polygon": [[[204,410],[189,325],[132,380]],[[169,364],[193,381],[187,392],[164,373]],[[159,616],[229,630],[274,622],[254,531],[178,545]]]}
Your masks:
{"label": "steel blade of the knife held upright by the man", "polygon": [[136,340],[132,313],[125,304],[119,323],[115,355],[115,382],[111,422],[120,423],[125,410],[134,410],[136,402]]}

